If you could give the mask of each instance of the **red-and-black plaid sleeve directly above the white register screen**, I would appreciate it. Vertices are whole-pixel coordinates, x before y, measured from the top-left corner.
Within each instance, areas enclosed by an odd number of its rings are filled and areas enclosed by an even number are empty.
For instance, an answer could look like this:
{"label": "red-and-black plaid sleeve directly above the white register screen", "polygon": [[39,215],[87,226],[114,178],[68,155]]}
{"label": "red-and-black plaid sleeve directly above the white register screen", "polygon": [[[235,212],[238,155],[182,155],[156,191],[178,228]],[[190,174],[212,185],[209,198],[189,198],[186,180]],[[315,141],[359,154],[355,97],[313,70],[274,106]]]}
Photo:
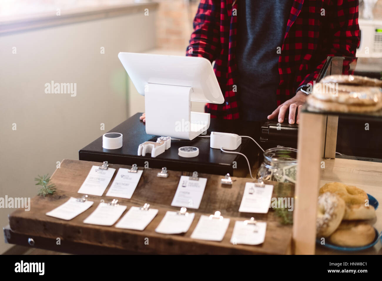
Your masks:
{"label": "red-and-black plaid sleeve directly above the white register screen", "polygon": [[214,61],[220,52],[220,0],[201,0],[186,56]]}

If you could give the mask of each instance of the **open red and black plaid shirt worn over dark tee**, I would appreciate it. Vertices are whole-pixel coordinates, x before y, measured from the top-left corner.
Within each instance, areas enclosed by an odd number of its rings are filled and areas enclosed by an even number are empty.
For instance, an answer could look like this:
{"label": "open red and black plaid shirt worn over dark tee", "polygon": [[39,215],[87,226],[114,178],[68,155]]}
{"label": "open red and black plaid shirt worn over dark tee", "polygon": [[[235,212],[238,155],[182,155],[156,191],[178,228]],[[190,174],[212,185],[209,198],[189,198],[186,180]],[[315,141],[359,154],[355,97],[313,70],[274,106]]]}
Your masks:
{"label": "open red and black plaid shirt worn over dark tee", "polygon": [[[215,61],[225,102],[207,103],[211,118],[240,117],[235,49],[237,17],[244,15],[237,10],[239,1],[201,0],[187,47],[186,55]],[[313,83],[328,56],[354,57],[358,45],[358,0],[294,0],[278,59],[275,108],[292,98],[299,86]]]}

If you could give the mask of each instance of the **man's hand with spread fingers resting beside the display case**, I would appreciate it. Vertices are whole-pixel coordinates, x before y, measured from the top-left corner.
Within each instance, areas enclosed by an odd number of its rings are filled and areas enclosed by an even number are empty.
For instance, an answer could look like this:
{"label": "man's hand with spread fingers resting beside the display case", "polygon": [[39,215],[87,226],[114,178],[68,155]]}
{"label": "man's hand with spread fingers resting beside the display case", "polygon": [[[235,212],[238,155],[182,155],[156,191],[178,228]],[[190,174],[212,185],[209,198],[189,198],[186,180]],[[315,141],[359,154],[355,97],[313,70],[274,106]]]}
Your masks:
{"label": "man's hand with spread fingers resting beside the display case", "polygon": [[305,100],[306,100],[306,94],[304,94],[301,91],[298,91],[293,98],[279,105],[278,108],[276,108],[276,110],[272,112],[272,114],[268,115],[268,119],[272,120],[278,116],[277,118],[278,122],[283,123],[286,110],[288,110],[289,108],[289,118],[288,118],[289,124],[295,123],[296,111],[297,111],[296,123],[298,124],[299,117],[300,117],[299,116],[300,110],[301,110],[301,107],[303,107]]}

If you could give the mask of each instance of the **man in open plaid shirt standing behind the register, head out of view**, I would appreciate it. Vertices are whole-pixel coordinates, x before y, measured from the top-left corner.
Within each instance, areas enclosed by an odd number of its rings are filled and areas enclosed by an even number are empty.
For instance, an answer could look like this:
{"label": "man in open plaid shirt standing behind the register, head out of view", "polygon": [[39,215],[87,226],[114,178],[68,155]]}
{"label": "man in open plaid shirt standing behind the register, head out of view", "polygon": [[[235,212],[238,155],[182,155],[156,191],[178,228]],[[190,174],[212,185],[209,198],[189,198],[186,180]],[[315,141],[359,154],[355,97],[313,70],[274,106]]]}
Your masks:
{"label": "man in open plaid shirt standing behind the register, head out of view", "polygon": [[201,0],[193,25],[186,55],[215,61],[225,101],[205,111],[222,119],[299,123],[326,58],[360,39],[358,0]]}

